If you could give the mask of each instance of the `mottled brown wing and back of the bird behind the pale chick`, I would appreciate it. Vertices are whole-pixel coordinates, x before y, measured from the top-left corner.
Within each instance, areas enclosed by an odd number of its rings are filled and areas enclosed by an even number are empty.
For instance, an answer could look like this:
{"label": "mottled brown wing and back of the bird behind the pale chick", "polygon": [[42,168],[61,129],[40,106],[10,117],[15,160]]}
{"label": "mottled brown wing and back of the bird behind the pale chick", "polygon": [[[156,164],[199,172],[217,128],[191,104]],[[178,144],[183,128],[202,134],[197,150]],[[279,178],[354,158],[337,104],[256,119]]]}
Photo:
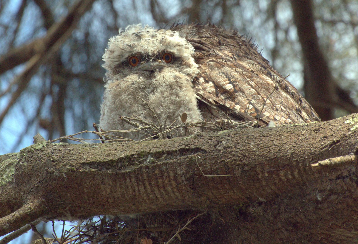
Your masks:
{"label": "mottled brown wing and back of the bird behind the pale chick", "polygon": [[285,125],[319,120],[297,89],[235,31],[209,24],[173,29],[185,33],[195,48],[200,72],[194,89],[203,102],[240,121],[256,122],[262,110],[260,126],[270,121]]}

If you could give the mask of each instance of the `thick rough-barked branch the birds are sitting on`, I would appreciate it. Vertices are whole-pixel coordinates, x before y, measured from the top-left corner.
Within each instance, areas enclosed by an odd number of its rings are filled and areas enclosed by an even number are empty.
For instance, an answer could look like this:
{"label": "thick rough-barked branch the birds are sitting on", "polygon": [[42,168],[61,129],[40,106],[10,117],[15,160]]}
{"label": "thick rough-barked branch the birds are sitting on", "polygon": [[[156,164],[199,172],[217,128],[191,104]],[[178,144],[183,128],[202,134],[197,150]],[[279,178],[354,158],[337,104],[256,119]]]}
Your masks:
{"label": "thick rough-barked branch the birds are sitting on", "polygon": [[171,140],[39,142],[0,156],[0,235],[39,218],[194,209],[225,221],[205,243],[353,241],[356,162],[311,164],[355,153],[357,136],[353,114]]}

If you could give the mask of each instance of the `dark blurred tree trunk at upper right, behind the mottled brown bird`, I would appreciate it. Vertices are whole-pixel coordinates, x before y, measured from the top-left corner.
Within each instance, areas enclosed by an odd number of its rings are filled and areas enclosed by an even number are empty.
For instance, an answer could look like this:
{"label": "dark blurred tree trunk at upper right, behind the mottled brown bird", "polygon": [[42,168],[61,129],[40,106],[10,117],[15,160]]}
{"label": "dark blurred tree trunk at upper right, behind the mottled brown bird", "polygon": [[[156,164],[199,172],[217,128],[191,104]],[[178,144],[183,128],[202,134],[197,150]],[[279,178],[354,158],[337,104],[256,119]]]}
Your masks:
{"label": "dark blurred tree trunk at upper right, behind the mottled brown bird", "polygon": [[301,43],[304,62],[305,98],[323,121],[334,118],[334,109],[342,108],[350,113],[358,111],[349,92],[340,88],[320,50],[314,24],[311,0],[291,0],[294,22]]}

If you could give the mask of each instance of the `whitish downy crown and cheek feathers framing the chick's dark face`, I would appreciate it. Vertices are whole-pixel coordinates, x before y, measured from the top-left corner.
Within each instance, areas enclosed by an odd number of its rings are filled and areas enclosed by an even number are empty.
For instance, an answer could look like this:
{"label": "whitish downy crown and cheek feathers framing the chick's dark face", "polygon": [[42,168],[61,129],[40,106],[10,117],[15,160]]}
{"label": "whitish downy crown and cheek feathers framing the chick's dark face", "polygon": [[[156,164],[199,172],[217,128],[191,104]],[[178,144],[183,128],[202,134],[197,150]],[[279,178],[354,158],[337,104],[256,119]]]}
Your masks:
{"label": "whitish downy crown and cheek feathers framing the chick's dark face", "polygon": [[[108,47],[103,54],[103,67],[107,69],[107,78],[123,78],[133,74],[140,67],[125,67],[123,63],[127,62],[131,55],[142,53],[150,57],[159,57],[162,52],[170,52],[174,57],[180,57],[187,65],[174,65],[180,69],[180,72],[194,77],[198,70],[192,55],[194,48],[185,39],[181,38],[176,31],[157,29],[141,25],[130,25],[125,31],[110,39]],[[127,69],[131,68],[131,69]],[[116,72],[117,70],[117,72]],[[111,82],[108,80],[108,82]]]}

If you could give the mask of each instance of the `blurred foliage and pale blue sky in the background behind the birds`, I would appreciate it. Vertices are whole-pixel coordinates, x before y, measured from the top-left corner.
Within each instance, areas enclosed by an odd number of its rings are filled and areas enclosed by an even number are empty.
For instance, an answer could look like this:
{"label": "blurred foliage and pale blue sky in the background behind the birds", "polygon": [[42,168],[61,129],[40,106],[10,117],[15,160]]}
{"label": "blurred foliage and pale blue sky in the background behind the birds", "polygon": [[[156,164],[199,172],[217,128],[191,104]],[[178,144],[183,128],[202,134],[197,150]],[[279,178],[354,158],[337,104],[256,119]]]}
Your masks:
{"label": "blurred foliage and pale blue sky in the background behind the birds", "polygon": [[[74,0],[2,0],[0,55],[46,35],[66,16]],[[358,3],[315,0],[316,28],[322,50],[340,86],[358,93]],[[6,113],[0,152],[18,151],[40,133],[46,139],[93,130],[103,92],[102,54],[108,38],[129,24],[155,27],[175,22],[206,22],[237,28],[253,37],[265,58],[294,86],[303,84],[303,62],[287,0],[97,0],[77,29],[38,72]],[[25,64],[0,74],[0,113],[16,90],[10,86]],[[10,87],[10,89],[8,89]],[[322,94],[324,96],[325,94]],[[89,135],[91,136],[91,135]]]}

